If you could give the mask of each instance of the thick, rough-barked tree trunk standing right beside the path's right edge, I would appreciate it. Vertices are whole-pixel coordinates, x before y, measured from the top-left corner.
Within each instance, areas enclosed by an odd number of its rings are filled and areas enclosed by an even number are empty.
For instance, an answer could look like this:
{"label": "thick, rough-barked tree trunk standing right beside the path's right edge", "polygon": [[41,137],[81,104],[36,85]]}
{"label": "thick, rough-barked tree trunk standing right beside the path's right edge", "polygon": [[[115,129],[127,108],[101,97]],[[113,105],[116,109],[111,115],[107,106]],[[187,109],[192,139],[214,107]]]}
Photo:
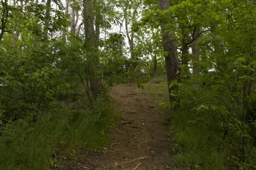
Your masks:
{"label": "thick, rough-barked tree trunk standing right beside the path's right edge", "polygon": [[[167,10],[169,8],[169,0],[159,0],[158,1],[158,9],[161,11]],[[171,16],[169,16],[171,17]],[[169,84],[174,80],[178,80],[177,71],[179,71],[179,59],[176,41],[173,40],[173,35],[169,33],[166,29],[166,23],[161,24],[162,30],[162,40],[163,40],[163,50],[166,53],[164,56],[165,66],[166,66],[166,74],[167,74],[167,84],[169,93],[172,93],[172,90],[176,89],[177,86],[169,87]],[[169,100],[172,101],[173,98],[170,95]]]}

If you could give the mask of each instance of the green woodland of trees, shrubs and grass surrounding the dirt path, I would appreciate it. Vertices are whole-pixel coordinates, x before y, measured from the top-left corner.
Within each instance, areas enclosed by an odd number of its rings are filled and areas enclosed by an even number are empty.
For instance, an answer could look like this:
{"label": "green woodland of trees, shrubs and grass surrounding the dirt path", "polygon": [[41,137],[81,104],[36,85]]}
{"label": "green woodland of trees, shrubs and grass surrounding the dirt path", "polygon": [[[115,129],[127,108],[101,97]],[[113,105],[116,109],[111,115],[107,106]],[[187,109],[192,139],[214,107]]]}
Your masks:
{"label": "green woodland of trees, shrubs and grass surrounding the dirt path", "polygon": [[159,75],[149,90],[170,94],[177,164],[256,169],[255,1],[0,4],[0,169],[102,149],[118,122],[110,87]]}

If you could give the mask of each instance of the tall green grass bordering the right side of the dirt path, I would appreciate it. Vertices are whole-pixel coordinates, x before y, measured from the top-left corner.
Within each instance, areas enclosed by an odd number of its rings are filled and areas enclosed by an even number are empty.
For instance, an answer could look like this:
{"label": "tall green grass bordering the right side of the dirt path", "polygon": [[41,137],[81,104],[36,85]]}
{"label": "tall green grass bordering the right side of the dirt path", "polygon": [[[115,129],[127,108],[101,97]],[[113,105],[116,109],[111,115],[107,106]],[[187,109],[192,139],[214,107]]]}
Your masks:
{"label": "tall green grass bordering the right side of the dirt path", "polygon": [[193,114],[173,112],[170,127],[174,131],[175,161],[185,169],[226,169],[229,151],[215,125],[204,120],[194,122]]}

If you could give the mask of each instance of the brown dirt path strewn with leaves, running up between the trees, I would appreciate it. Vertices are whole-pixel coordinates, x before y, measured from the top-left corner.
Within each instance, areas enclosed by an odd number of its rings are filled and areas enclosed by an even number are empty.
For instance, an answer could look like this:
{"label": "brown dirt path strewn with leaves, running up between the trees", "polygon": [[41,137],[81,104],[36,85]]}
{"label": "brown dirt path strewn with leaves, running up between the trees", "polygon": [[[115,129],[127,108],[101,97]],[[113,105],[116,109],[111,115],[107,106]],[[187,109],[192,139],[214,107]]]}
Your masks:
{"label": "brown dirt path strewn with leaves, running up between the trees", "polygon": [[166,115],[145,91],[132,84],[113,88],[116,112],[122,122],[111,132],[113,144],[101,153],[90,153],[76,169],[173,169]]}

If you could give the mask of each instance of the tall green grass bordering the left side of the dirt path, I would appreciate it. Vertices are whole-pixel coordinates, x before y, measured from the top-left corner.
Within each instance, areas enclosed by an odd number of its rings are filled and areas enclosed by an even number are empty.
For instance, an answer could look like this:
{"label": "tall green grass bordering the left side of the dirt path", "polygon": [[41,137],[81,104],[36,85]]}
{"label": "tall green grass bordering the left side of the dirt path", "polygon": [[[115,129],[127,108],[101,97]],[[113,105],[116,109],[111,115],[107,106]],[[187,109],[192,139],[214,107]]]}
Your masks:
{"label": "tall green grass bordering the left side of the dirt path", "polygon": [[117,117],[104,99],[93,109],[71,111],[57,108],[36,122],[17,120],[0,132],[0,169],[47,169],[80,149],[99,150],[109,143],[105,131]]}

